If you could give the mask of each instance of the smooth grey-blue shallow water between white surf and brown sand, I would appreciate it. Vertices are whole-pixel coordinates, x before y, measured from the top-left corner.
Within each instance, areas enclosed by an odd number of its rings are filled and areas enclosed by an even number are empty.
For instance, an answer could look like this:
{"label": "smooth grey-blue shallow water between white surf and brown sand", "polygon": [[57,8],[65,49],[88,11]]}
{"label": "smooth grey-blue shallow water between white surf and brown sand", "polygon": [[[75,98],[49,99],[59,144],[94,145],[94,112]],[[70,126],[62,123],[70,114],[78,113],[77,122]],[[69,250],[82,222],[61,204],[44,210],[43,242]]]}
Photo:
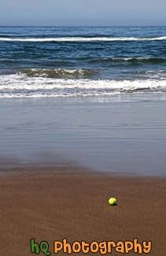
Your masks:
{"label": "smooth grey-blue shallow water between white surf and brown sand", "polygon": [[1,157],[9,163],[165,175],[165,109],[162,94],[2,99]]}

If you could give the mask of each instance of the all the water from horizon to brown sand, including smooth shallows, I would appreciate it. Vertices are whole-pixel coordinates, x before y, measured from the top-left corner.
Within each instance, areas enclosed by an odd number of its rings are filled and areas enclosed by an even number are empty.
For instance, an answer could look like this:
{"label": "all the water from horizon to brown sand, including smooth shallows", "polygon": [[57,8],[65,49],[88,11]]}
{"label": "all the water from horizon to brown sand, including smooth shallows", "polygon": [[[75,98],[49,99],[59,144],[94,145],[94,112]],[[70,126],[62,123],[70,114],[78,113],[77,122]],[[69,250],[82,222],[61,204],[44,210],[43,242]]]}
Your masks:
{"label": "all the water from horizon to brown sand, including smooth shallows", "polygon": [[166,27],[0,27],[0,170],[165,175]]}

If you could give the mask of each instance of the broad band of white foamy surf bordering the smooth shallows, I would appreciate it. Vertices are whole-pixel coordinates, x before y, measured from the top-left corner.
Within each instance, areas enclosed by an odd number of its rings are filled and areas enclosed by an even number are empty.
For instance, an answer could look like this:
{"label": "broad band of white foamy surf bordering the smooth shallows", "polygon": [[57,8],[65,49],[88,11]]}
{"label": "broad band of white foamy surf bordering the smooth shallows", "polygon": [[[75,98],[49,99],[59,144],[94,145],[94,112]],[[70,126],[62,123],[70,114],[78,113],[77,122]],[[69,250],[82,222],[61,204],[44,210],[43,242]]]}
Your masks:
{"label": "broad band of white foamy surf bordering the smooth shallows", "polygon": [[90,80],[2,75],[0,98],[76,97],[166,92],[166,80]]}

